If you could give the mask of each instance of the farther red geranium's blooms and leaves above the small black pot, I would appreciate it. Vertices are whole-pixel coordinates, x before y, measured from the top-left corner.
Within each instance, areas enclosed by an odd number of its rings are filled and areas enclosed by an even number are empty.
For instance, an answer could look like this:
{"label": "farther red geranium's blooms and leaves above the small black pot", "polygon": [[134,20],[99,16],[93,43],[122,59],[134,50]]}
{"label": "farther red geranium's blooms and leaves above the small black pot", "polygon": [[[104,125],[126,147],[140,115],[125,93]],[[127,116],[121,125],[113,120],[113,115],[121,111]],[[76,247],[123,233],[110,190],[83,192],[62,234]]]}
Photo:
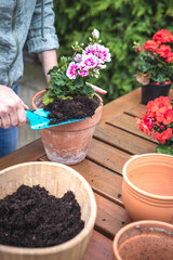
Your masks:
{"label": "farther red geranium's blooms and leaves above the small black pot", "polygon": [[149,82],[171,83],[173,76],[173,35],[165,29],[157,31],[143,47],[134,42],[137,53],[138,73],[136,80],[142,84]]}

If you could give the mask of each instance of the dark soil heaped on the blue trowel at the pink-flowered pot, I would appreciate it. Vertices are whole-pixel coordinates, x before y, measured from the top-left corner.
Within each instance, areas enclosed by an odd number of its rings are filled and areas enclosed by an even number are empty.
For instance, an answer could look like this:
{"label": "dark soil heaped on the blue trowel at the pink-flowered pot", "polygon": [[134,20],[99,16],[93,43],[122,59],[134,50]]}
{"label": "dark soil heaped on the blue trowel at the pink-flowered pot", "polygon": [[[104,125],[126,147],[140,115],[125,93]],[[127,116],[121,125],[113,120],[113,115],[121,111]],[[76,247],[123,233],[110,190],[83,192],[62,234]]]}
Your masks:
{"label": "dark soil heaped on the blue trowel at the pink-flowered pot", "polygon": [[44,107],[44,110],[50,112],[48,116],[48,118],[52,119],[50,125],[55,125],[69,119],[92,117],[98,105],[99,101],[97,98],[89,99],[83,94],[82,96],[75,96],[72,100],[56,98]]}

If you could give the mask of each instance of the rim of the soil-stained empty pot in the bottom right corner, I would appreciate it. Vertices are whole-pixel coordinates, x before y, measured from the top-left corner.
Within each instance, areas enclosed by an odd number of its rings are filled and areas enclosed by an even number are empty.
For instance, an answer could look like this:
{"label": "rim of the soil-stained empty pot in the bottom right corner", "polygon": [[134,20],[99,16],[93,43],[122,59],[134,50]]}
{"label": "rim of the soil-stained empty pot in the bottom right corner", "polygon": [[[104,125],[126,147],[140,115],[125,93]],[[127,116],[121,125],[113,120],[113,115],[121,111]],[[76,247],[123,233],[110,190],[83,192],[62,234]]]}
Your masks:
{"label": "rim of the soil-stained empty pot in the bottom right corner", "polygon": [[163,221],[158,221],[158,220],[141,220],[141,221],[135,221],[132,222],[130,224],[127,224],[125,226],[123,226],[122,229],[120,229],[112,242],[112,250],[114,250],[114,255],[116,256],[117,260],[122,260],[122,258],[119,255],[119,250],[118,250],[118,244],[119,244],[119,239],[121,237],[121,235],[125,232],[129,232],[131,230],[134,230],[136,227],[136,231],[139,227],[162,227],[162,229],[167,229],[167,230],[171,230],[173,232],[173,225]]}

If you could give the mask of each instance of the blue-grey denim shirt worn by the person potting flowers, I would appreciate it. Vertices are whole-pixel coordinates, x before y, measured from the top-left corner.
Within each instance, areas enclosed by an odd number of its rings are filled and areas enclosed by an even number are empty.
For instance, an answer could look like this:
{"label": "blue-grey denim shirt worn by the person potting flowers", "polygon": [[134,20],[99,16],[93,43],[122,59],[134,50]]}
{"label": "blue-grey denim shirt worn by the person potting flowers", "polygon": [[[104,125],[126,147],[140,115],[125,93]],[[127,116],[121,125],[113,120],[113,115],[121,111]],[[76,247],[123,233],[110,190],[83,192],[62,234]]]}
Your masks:
{"label": "blue-grey denim shirt worn by the person potting flowers", "polygon": [[0,84],[14,88],[23,76],[23,48],[57,49],[53,0],[0,0]]}

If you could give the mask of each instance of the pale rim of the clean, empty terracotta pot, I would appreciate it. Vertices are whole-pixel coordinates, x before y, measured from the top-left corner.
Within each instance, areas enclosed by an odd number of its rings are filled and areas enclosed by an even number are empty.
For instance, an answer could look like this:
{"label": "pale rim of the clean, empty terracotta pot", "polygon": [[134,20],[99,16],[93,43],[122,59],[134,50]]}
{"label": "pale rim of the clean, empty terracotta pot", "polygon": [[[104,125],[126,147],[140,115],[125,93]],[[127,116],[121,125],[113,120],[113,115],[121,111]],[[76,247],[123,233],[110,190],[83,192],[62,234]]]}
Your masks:
{"label": "pale rim of the clean, empty terracotta pot", "polygon": [[136,160],[141,157],[152,157],[152,156],[158,156],[158,157],[169,157],[172,159],[172,155],[167,155],[167,154],[157,154],[157,153],[150,153],[150,154],[142,154],[142,155],[134,155],[132,156],[123,166],[123,169],[122,169],[122,174],[123,174],[123,179],[124,181],[130,185],[130,187],[132,187],[135,192],[144,195],[144,196],[147,196],[147,197],[150,197],[150,198],[155,198],[155,199],[161,199],[161,200],[167,200],[167,202],[172,202],[173,200],[173,196],[162,196],[162,195],[155,195],[155,194],[151,194],[151,193],[148,193],[148,192],[145,192],[143,191],[142,188],[135,186],[128,178],[127,176],[127,168],[129,166],[129,164],[133,160]]}

